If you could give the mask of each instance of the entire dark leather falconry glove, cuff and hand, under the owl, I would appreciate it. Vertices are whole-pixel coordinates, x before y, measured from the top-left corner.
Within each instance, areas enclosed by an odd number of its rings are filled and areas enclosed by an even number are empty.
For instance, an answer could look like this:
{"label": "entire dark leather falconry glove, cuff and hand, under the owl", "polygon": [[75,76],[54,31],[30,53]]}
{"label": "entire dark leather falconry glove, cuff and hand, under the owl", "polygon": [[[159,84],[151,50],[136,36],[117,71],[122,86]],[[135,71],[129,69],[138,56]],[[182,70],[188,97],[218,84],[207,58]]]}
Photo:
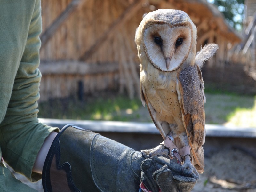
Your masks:
{"label": "entire dark leather falconry glove, cuff and hand, under the owl", "polygon": [[[121,143],[75,125],[66,125],[55,137],[46,156],[43,188],[45,192],[138,192],[147,189],[165,192],[172,188],[187,192],[196,183],[194,178],[180,171],[177,162],[157,156],[144,160],[141,152]],[[150,165],[146,165],[148,161]],[[151,165],[151,171],[145,170]],[[140,180],[146,189],[140,189]],[[188,186],[192,186],[190,190],[186,189]]]}

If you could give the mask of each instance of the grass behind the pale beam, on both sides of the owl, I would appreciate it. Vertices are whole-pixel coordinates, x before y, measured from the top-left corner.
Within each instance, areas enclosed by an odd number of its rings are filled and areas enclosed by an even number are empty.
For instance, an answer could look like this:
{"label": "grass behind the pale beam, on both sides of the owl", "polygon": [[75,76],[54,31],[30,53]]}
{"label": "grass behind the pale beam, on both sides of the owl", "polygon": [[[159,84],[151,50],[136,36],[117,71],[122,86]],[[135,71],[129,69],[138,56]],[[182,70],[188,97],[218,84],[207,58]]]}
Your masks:
{"label": "grass behind the pale beam, on both sides of the owl", "polygon": [[[112,120],[152,122],[147,107],[140,99],[130,100],[121,95],[103,94],[80,102],[55,99],[39,103],[38,117],[75,120]],[[207,124],[228,124],[256,127],[256,97],[236,94],[206,93]]]}

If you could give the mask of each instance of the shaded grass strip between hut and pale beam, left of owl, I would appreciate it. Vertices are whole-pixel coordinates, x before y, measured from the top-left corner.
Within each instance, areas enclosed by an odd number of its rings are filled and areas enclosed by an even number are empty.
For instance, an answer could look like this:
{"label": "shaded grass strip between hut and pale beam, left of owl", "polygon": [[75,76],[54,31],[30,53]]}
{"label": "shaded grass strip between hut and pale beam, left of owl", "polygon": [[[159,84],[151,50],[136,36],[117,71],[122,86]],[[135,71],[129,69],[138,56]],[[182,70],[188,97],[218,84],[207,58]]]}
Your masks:
{"label": "shaded grass strip between hut and pale beam, left of owl", "polygon": [[129,121],[136,116],[139,99],[124,96],[87,98],[85,102],[73,99],[54,99],[39,103],[38,117],[57,119]]}

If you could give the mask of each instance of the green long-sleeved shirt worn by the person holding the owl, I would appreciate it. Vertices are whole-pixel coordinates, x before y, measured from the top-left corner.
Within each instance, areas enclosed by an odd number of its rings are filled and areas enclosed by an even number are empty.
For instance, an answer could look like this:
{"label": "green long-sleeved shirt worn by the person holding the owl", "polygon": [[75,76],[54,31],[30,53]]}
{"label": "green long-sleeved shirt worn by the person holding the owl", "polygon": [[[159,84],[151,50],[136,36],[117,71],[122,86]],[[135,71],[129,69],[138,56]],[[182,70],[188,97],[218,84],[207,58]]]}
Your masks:
{"label": "green long-sleeved shirt worn by the person holding the owl", "polygon": [[[32,167],[45,138],[57,130],[37,119],[41,30],[40,0],[0,1],[0,155],[31,181],[41,178]],[[15,191],[9,174],[0,167],[0,191]]]}

